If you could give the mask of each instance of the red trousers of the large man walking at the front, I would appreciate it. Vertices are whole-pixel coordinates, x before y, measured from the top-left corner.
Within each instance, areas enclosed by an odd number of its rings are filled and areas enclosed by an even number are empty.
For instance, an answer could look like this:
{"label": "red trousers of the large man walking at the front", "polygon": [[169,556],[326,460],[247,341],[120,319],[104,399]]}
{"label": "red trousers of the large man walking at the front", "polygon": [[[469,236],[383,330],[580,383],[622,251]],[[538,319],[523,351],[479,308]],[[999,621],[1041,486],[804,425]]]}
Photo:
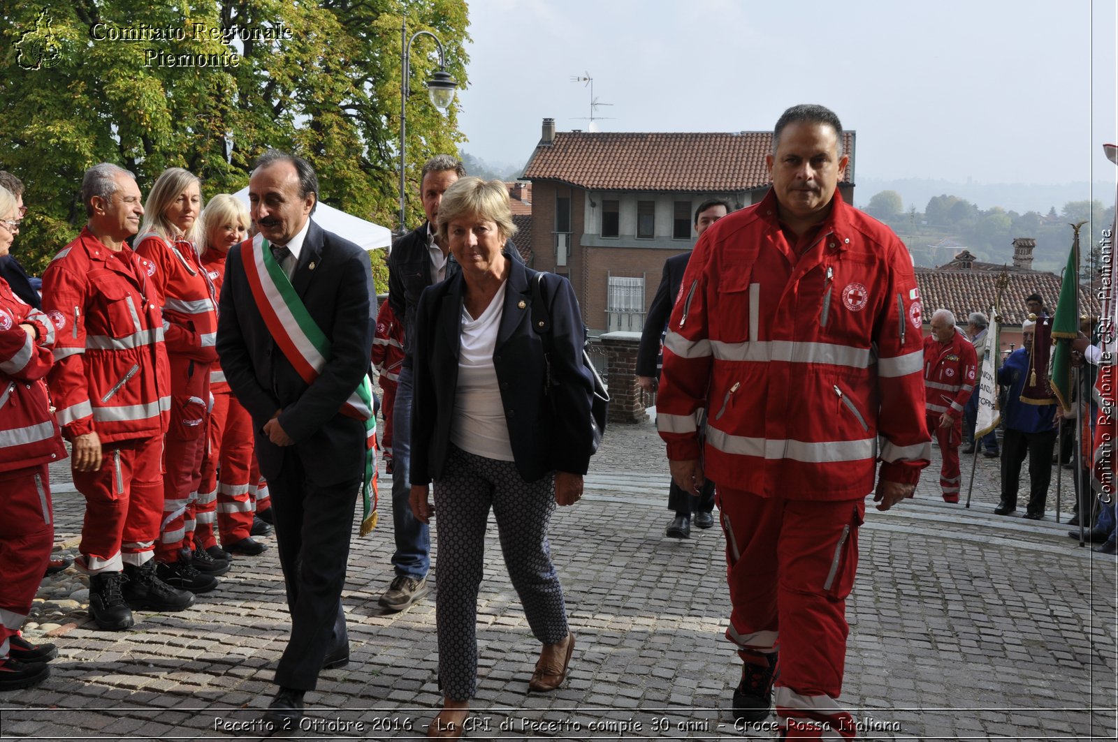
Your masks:
{"label": "red trousers of the large man walking at the front", "polygon": [[779,650],[775,701],[787,739],[853,739],[853,716],[835,698],[864,501],[760,497],[721,484],[717,497],[733,606],[727,638],[746,662]]}

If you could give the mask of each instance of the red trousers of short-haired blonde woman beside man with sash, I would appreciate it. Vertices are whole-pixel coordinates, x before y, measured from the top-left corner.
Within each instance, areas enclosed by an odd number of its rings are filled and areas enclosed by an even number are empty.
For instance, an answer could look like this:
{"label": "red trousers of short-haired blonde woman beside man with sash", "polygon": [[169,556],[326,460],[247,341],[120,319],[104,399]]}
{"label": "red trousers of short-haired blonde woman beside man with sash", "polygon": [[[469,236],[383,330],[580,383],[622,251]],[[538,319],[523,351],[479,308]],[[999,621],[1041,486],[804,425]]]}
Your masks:
{"label": "red trousers of short-haired blonde woman beside man with sash", "polygon": [[249,535],[253,527],[253,492],[256,489],[253,454],[253,418],[229,391],[214,394],[209,440],[202,462],[201,486],[195,516],[195,541],[202,549],[217,544],[217,522],[221,543],[230,544]]}

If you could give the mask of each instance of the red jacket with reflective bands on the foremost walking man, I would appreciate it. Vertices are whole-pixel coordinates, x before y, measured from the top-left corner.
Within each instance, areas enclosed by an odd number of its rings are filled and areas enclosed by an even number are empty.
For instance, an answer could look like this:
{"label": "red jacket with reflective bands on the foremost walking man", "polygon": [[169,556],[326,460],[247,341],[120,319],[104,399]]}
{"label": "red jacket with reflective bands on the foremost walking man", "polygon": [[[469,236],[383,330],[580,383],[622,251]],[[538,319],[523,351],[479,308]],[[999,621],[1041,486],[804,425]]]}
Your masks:
{"label": "red jacket with reflective bands on the foremost walking man", "polygon": [[[673,460],[764,496],[851,500],[928,465],[921,305],[885,226],[834,207],[797,258],[771,191],[695,246],[664,341],[656,418]],[[883,445],[878,448],[878,437]]]}

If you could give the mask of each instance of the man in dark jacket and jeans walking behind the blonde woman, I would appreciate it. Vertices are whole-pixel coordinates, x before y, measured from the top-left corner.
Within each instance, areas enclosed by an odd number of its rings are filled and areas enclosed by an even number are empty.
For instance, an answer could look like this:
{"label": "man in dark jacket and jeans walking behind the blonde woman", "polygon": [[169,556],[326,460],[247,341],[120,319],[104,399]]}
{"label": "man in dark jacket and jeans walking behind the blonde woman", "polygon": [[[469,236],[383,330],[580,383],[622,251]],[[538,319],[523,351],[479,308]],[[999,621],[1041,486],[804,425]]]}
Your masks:
{"label": "man in dark jacket and jeans walking behind the blonde woman", "polygon": [[[443,193],[466,174],[462,163],[448,154],[437,154],[426,163],[419,179],[419,199],[427,221],[392,244],[388,256],[388,303],[392,313],[404,323],[404,365],[396,387],[392,416],[392,529],[396,552],[392,568],[396,577],[380,597],[387,610],[404,610],[427,594],[427,572],[430,569],[430,531],[413,513],[408,503],[411,483],[408,468],[411,462],[411,337],[416,326],[416,307],[419,295],[454,276],[461,269],[451,256],[449,245],[435,240],[438,231],[438,206]],[[404,229],[404,225],[400,225]],[[523,263],[510,239],[505,254]],[[386,411],[386,416],[389,415]]]}

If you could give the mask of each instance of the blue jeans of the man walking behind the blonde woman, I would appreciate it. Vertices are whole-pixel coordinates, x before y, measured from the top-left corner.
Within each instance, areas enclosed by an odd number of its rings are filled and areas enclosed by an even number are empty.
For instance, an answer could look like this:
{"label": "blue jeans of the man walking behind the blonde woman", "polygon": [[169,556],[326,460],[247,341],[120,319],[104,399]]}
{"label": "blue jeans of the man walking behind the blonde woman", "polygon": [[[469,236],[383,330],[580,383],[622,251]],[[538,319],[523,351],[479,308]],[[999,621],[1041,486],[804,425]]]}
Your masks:
{"label": "blue jeans of the man walking behind the blonde woman", "polygon": [[400,577],[420,580],[430,569],[430,530],[411,514],[411,369],[400,369],[392,407],[392,527],[396,553],[392,567]]}

